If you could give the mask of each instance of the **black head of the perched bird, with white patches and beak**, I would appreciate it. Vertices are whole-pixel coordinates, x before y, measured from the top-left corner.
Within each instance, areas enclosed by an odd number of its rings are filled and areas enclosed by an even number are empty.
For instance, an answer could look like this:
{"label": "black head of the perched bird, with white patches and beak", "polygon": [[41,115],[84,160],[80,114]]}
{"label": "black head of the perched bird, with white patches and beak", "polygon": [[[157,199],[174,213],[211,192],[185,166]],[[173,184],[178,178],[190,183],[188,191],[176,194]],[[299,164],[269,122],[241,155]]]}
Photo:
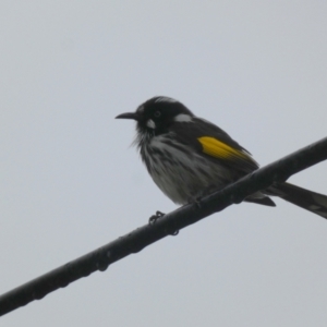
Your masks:
{"label": "black head of the perched bird, with white patches and beak", "polygon": [[155,136],[169,132],[171,124],[190,122],[194,114],[181,102],[168,97],[154,97],[145,101],[135,112],[117,116],[136,120],[138,134]]}

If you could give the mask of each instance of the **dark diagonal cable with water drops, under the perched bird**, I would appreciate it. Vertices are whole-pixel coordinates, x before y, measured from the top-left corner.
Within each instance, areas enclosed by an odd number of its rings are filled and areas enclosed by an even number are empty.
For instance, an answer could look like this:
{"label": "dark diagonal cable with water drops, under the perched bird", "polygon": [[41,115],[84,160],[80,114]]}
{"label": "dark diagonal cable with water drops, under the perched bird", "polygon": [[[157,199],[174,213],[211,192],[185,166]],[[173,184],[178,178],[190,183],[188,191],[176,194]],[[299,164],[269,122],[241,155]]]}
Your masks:
{"label": "dark diagonal cable with water drops, under the perched bird", "polygon": [[185,205],[134,231],[0,295],[0,316],[90,275],[185,228],[246,196],[283,182],[290,175],[327,159],[327,137],[267,165],[223,190]]}

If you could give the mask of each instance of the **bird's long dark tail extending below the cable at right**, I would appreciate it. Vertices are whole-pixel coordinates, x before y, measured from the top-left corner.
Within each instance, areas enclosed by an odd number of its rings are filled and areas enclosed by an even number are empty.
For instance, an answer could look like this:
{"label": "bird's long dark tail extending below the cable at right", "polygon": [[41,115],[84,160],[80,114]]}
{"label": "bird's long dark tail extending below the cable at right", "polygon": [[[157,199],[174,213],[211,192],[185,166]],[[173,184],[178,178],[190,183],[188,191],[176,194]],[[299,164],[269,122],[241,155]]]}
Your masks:
{"label": "bird's long dark tail extending below the cable at right", "polygon": [[327,195],[315,193],[289,183],[270,186],[269,195],[277,195],[303,209],[327,219]]}

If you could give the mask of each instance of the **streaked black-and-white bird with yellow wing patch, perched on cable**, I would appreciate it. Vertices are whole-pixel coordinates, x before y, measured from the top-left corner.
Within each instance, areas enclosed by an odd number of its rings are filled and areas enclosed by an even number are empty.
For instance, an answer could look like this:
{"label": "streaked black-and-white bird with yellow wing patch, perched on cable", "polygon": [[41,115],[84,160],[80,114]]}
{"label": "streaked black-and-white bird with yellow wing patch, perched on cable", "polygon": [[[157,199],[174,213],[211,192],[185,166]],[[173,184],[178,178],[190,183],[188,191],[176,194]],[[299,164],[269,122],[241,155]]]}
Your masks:
{"label": "streaked black-and-white bird with yellow wing patch, perched on cable", "polygon": [[[258,168],[251,154],[214,123],[169,97],[154,97],[135,112],[141,158],[157,186],[174,203],[186,204],[235,182]],[[269,195],[327,218],[327,196],[290,183],[274,184],[244,201],[275,206]]]}

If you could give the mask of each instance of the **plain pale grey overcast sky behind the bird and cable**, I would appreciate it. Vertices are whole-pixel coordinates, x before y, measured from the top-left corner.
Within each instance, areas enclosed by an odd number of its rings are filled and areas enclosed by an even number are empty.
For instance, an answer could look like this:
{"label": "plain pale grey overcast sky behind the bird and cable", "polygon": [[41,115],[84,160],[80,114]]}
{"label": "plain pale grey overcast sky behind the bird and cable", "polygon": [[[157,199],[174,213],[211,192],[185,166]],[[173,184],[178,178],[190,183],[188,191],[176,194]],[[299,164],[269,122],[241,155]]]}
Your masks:
{"label": "plain pale grey overcast sky behind the bird and cable", "polygon": [[[130,147],[179,99],[262,165],[327,135],[327,2],[1,1],[0,293],[171,203]],[[327,194],[327,162],[290,179]],[[327,221],[241,204],[1,326],[326,326]]]}

